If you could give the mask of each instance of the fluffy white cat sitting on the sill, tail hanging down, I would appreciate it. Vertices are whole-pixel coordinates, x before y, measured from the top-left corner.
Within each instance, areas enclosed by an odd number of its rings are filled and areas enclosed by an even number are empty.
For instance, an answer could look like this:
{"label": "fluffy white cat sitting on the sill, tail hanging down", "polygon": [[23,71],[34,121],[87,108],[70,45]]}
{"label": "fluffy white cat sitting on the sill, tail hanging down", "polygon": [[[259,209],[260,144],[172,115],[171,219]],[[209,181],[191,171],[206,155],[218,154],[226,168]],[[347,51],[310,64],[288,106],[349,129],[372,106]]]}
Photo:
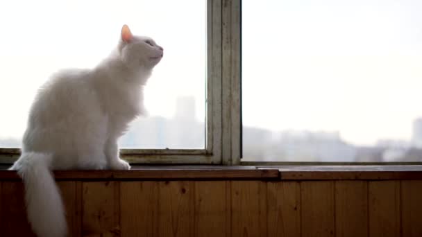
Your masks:
{"label": "fluffy white cat sitting on the sill, tail hanging down", "polygon": [[38,92],[22,155],[10,168],[24,179],[28,220],[40,237],[67,236],[65,209],[51,170],[128,170],[117,139],[144,111],[142,89],[162,47],[121,29],[117,49],[92,70],[57,73]]}

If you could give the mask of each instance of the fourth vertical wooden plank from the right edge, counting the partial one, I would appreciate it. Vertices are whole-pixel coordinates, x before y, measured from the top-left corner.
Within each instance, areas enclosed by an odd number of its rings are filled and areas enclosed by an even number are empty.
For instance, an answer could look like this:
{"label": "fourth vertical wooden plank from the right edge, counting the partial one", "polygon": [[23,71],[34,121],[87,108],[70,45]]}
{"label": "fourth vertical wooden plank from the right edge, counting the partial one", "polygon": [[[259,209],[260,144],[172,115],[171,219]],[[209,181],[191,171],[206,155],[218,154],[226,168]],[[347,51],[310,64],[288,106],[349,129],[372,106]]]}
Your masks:
{"label": "fourth vertical wooden plank from the right edge, counting the partial one", "polygon": [[335,236],[334,183],[301,182],[302,236]]}

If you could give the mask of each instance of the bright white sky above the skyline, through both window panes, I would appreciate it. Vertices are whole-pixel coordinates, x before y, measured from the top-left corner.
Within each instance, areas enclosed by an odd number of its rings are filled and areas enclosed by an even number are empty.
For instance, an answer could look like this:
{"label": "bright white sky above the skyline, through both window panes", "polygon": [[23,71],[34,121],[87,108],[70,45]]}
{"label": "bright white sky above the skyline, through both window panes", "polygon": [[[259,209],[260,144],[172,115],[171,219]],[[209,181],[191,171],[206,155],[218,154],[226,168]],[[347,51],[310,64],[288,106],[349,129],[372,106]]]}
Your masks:
{"label": "bright white sky above the skyline, through both window panes", "polygon": [[[92,68],[123,24],[164,48],[150,116],[193,96],[205,116],[205,1],[0,2],[0,138],[21,137],[35,91],[58,69]],[[422,116],[421,1],[244,0],[244,125],[405,139]]]}

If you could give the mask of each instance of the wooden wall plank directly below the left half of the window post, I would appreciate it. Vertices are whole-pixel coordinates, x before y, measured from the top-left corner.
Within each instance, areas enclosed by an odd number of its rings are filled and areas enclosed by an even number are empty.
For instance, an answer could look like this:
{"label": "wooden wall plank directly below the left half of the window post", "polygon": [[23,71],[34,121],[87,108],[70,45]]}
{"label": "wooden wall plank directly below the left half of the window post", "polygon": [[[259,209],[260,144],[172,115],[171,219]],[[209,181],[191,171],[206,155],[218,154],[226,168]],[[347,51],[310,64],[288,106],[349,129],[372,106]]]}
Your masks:
{"label": "wooden wall plank directly below the left half of the window post", "polygon": [[194,236],[230,236],[230,186],[226,181],[195,182]]}

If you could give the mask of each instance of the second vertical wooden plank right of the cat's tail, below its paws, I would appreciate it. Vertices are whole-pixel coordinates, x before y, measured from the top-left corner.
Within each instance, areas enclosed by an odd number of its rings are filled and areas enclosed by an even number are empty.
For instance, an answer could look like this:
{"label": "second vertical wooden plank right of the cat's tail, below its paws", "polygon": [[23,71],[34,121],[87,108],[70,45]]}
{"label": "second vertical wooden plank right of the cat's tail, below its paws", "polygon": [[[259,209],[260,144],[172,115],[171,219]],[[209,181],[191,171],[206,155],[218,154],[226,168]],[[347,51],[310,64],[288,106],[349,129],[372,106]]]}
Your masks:
{"label": "second vertical wooden plank right of the cat's tail, below its paws", "polygon": [[83,182],[83,236],[119,236],[119,182]]}

